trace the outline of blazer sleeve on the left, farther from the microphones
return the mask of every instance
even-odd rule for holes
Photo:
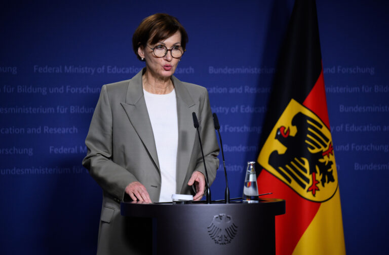
[[[138,180],[112,161],[112,110],[106,85],[101,89],[85,144],[88,151],[84,167],[104,191],[123,201],[127,185]]]

